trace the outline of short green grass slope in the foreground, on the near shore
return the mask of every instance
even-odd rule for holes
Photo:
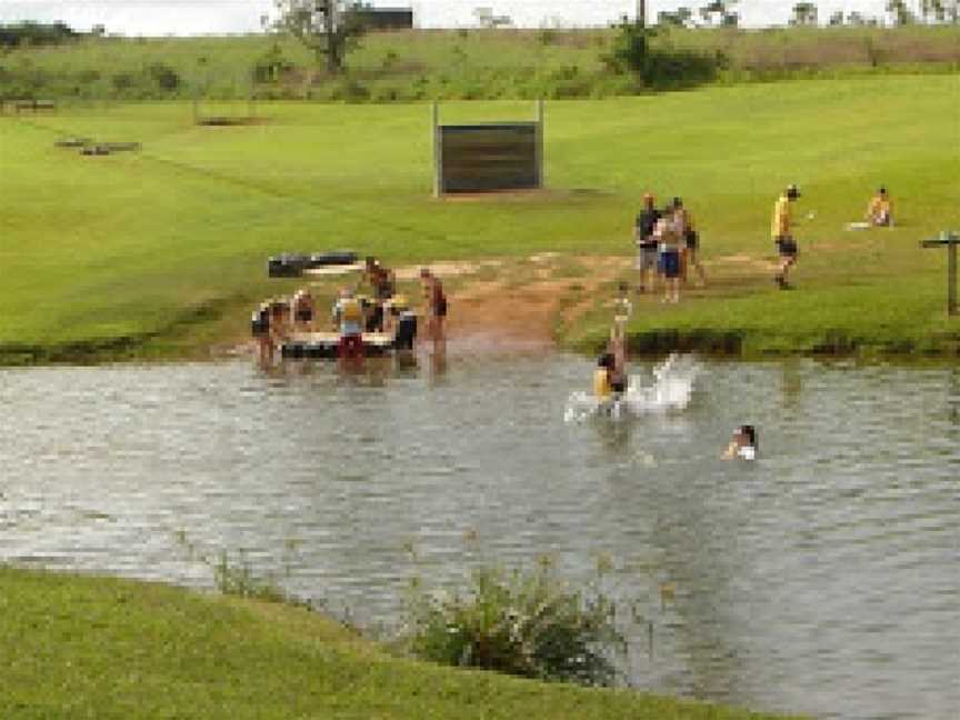
[[[774,716],[397,659],[284,604],[0,567],[3,718]]]

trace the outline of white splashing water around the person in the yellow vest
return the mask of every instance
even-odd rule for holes
[[[692,356],[674,352],[653,368],[652,384],[643,386],[642,378],[630,376],[627,391],[618,398],[600,399],[582,390],[570,393],[563,421],[579,422],[596,416],[619,420],[631,414],[683,410],[690,403],[693,382],[700,370]]]

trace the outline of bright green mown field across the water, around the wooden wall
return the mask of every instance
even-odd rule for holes
[[[252,306],[289,287],[264,271],[284,250],[351,248],[389,263],[626,257],[648,189],[687,200],[714,281],[679,307],[641,303],[636,346],[710,348],[732,333],[744,352],[957,352],[946,253],[918,241],[960,226],[960,74],[551,102],[550,191],[523,200],[434,200],[427,106],[259,111],[267,121],[242,128],[196,127],[189,103],[0,118],[0,359],[203,352],[243,337]],[[531,114],[516,102],[442,109],[449,122]],[[53,147],[73,134],[143,149]],[[797,233],[799,289],[778,292],[760,266],[791,181],[804,191],[799,213],[817,218]],[[881,182],[898,227],[844,232]],[[562,340],[592,347],[606,321],[594,314]]]

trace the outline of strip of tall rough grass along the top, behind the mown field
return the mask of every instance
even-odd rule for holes
[[[61,101],[246,99],[251,73],[262,99],[350,102],[430,99],[597,98],[644,91],[604,64],[613,30],[411,30],[368,36],[344,77],[316,70],[311,54],[283,37],[92,38],[0,56],[0,96]],[[718,59],[719,82],[949,72],[960,67],[960,28],[780,28],[662,30],[653,49]],[[702,79],[701,79],[702,80]],[[663,77],[661,87],[689,79]],[[649,90],[649,88],[646,88]]]

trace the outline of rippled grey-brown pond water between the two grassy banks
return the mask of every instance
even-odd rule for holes
[[[642,617],[636,687],[956,718],[960,369],[700,367],[686,409],[619,422],[566,422],[591,362],[540,351],[0,370],[0,562],[210,587],[190,547],[242,550],[392,627],[414,576],[546,553],[586,581],[606,558]],[[742,422],[759,459],[720,460]]]

